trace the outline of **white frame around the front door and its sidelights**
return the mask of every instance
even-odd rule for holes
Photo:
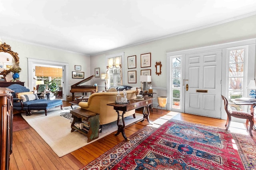
[[[248,40],[244,40],[244,41],[235,41],[235,42],[230,42],[230,43],[224,43],[224,44],[218,44],[218,45],[212,45],[212,46],[206,46],[206,47],[200,47],[200,48],[195,48],[195,49],[187,49],[187,50],[182,50],[182,51],[174,51],[174,52],[168,52],[166,53],[166,57],[167,57],[167,63],[169,65],[167,65],[167,97],[168,97],[168,101],[167,101],[167,106],[169,106],[169,108],[172,108],[172,101],[171,101],[171,97],[172,97],[172,83],[170,82],[171,79],[171,75],[172,75],[172,57],[174,56],[182,56],[182,65],[184,66],[184,61],[185,61],[185,55],[188,54],[193,54],[193,53],[202,53],[202,52],[207,52],[207,51],[214,51],[214,50],[222,50],[222,87],[221,87],[221,94],[226,95],[227,91],[227,81],[226,81],[226,69],[227,69],[227,57],[226,57],[226,49],[228,48],[232,48],[232,47],[239,47],[239,46],[246,46],[248,45],[248,60],[253,60],[254,62],[248,62],[248,66],[247,66],[247,70],[248,70],[248,74],[247,74],[247,81],[249,80],[253,80],[255,78],[256,75],[256,64],[255,64],[255,45],[256,45],[256,39],[248,39]],[[250,48],[251,47],[251,48]],[[252,57],[250,58],[250,56],[254,56],[254,58],[252,59]],[[182,80],[185,78],[185,69],[183,69],[184,67],[182,66]],[[247,83],[247,82],[246,82]],[[184,89],[184,84],[182,85],[182,89]],[[249,90],[248,90],[249,92]],[[247,93],[248,93],[247,92]],[[185,94],[183,93],[181,96],[181,100],[184,101],[185,98]],[[226,119],[226,112],[224,111],[224,107],[223,107],[223,102],[221,104],[222,108],[221,108],[221,119]],[[170,109],[171,110],[171,109]],[[184,113],[185,110],[185,105],[184,102],[182,102],[181,104],[181,108],[180,112]],[[177,111],[177,110],[175,110]]]

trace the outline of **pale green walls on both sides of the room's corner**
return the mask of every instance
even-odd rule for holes
[[[164,23],[163,23],[164,27]],[[132,36],[132,35],[130,35]],[[4,35],[2,35],[4,37]],[[256,38],[256,16],[231,21],[221,25],[193,31],[190,33],[184,33],[149,43],[135,45],[115,51],[102,53],[88,57],[86,55],[71,53],[54,48],[48,48],[38,45],[32,45],[28,43],[22,43],[13,41],[10,39],[2,40],[12,47],[12,51],[17,52],[20,57],[20,66],[22,72],[20,72],[20,79],[25,82],[25,86],[28,86],[28,62],[27,58],[43,59],[48,61],[60,61],[69,64],[69,84],[68,86],[80,81],[72,79],[71,72],[74,71],[74,65],[81,65],[82,72],[85,72],[85,77],[94,74],[94,68],[100,67],[100,73],[106,71],[105,56],[115,53],[124,52],[124,65],[122,66],[124,72],[124,85],[140,86],[140,70],[151,69],[152,74],[152,87],[166,88],[166,71],[168,64],[166,63],[166,52],[180,51],[184,49],[192,49],[198,47],[205,47],[209,45],[216,45],[220,43],[228,43],[233,41],[241,41],[245,39]],[[151,67],[140,68],[140,54],[151,53]],[[137,68],[127,68],[127,57],[137,56]],[[155,63],[162,62],[162,74],[157,76],[155,74]],[[137,83],[128,84],[128,70],[137,71]],[[100,90],[104,89],[104,80],[100,78],[94,78],[94,82],[100,85]],[[94,83],[93,82],[93,83]]]

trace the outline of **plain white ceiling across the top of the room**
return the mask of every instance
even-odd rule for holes
[[[0,0],[0,36],[94,55],[255,14],[255,0]]]

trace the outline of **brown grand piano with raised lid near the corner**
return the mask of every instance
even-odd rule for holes
[[[74,93],[82,93],[82,95],[84,95],[84,93],[87,92],[92,92],[92,90],[95,90],[95,92],[98,92],[98,86],[94,86],[94,85],[82,85],[85,82],[88,82],[89,80],[91,80],[94,77],[94,75],[76,83],[73,84],[71,86],[71,90],[70,93],[72,93],[72,99],[74,100]]]

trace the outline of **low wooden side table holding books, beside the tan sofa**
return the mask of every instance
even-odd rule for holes
[[[99,137],[99,113],[94,113],[86,109],[74,109],[70,110],[70,113],[74,118],[71,124],[71,132],[77,130],[86,135],[88,137],[87,143]],[[77,122],[83,122],[82,129],[74,125]]]

